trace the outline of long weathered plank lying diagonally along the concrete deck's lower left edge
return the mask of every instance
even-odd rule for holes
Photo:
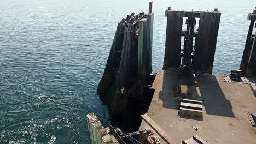
[[[177,143],[170,139],[170,137],[165,133],[165,131],[159,127],[147,114],[141,115],[145,122],[147,122],[168,144]]]

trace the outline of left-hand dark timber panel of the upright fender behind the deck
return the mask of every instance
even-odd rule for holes
[[[166,10],[167,16],[164,67],[179,68],[184,11]]]

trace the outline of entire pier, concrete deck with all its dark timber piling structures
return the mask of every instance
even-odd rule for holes
[[[116,136],[112,138],[147,144],[255,143],[256,10],[248,14],[251,23],[240,70],[231,70],[229,76],[212,75],[221,16],[218,9],[169,7],[165,16],[164,65],[157,74],[151,74],[152,2],[148,14],[132,13],[118,23],[97,93],[108,97],[104,93],[116,83],[112,121],[132,127],[141,113],[142,122],[135,133],[112,129]],[[147,109],[142,110],[143,106]],[[102,125],[93,118],[90,121],[91,139],[95,139],[94,131]],[[133,134],[140,136],[133,140],[129,137]]]

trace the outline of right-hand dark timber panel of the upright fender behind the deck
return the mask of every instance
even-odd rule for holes
[[[196,37],[195,58],[192,67],[212,74],[221,13],[216,9],[202,12]]]

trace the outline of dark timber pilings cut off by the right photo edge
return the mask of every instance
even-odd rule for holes
[[[254,9],[253,13],[249,13],[247,19],[251,21],[245,50],[243,51],[243,57],[240,64],[240,70],[242,70],[242,76],[244,77],[256,77],[256,39],[255,34],[253,34],[253,27],[256,20],[256,9]]]

